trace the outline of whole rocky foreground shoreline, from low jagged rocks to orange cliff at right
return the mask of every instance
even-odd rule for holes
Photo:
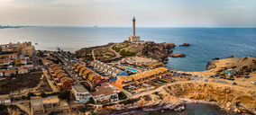
[[[171,92],[169,92],[170,90]],[[108,106],[104,109],[104,113],[131,114],[139,111],[184,111],[186,110],[186,104],[208,103],[218,105],[222,110],[231,114],[256,114],[254,94],[254,91],[227,85],[177,83],[166,86],[158,93],[146,93],[146,95],[138,97],[136,102]]]

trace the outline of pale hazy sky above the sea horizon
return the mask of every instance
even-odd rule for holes
[[[0,0],[0,24],[256,27],[256,0]]]

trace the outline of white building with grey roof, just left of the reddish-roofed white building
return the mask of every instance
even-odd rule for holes
[[[88,102],[92,97],[87,89],[82,85],[73,85],[71,91],[78,102]]]

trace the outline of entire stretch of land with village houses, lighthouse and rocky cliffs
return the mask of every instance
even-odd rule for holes
[[[256,114],[256,58],[215,58],[205,72],[165,66],[173,43],[122,43],[71,53],[38,50],[31,41],[0,46],[1,114],[133,114],[183,111],[207,102],[232,113]],[[184,43],[178,47],[193,47]]]

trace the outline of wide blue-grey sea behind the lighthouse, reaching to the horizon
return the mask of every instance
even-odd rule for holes
[[[36,49],[75,52],[78,49],[123,42],[132,35],[130,27],[24,27],[0,29],[0,44],[32,41]],[[167,66],[178,71],[205,71],[213,58],[256,57],[256,28],[146,28],[137,27],[142,40],[175,43]],[[190,47],[178,47],[189,43]]]

